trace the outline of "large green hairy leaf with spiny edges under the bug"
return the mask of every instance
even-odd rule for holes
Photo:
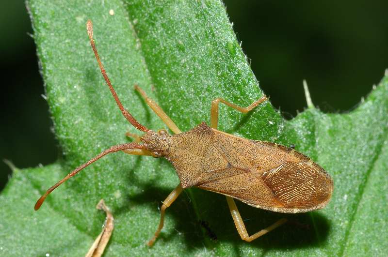
[[[220,107],[219,128],[250,139],[295,145],[333,177],[334,194],[320,211],[267,212],[237,203],[250,234],[280,217],[291,222],[258,240],[240,239],[225,197],[185,190],[167,210],[154,247],[160,202],[179,183],[163,159],[111,154],[56,189],[39,212],[36,199],[75,166],[137,131],[115,106],[85,30],[124,106],[141,123],[166,128],[133,90],[139,84],[181,130],[209,123],[210,102],[223,97],[247,106],[262,93],[216,0],[162,2],[30,0],[34,39],[63,156],[57,163],[15,170],[0,195],[0,253],[4,256],[81,256],[100,232],[103,198],[115,228],[106,256],[384,255],[388,177],[388,78],[354,111],[309,108],[285,121],[269,104],[242,115]],[[110,15],[110,10],[114,15]],[[199,220],[218,240],[212,241]]]

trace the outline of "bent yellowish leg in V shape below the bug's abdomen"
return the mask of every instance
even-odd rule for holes
[[[253,234],[252,236],[249,236],[248,232],[246,231],[244,221],[241,218],[240,212],[237,209],[236,203],[234,202],[233,198],[226,197],[226,201],[230,209],[230,214],[232,214],[234,225],[236,226],[241,239],[246,242],[251,242],[257,239],[258,237],[261,237],[262,235],[267,234],[269,231],[275,229],[276,227],[279,227],[280,225],[283,225],[287,221],[287,219],[280,219],[276,221],[274,224],[272,224],[271,226],[261,229],[259,232]]]

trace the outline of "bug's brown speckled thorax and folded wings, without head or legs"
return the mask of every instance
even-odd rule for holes
[[[174,138],[175,155],[166,158],[183,188],[197,186],[275,212],[321,209],[333,192],[330,175],[291,148],[232,136],[205,123]]]

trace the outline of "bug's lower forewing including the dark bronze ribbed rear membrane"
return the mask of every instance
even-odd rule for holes
[[[263,173],[231,166],[205,173],[196,186],[265,210],[308,212],[322,209],[333,188],[316,166],[284,162]]]

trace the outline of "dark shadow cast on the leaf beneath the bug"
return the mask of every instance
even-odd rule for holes
[[[173,190],[172,188],[155,187],[151,183],[143,184],[142,187],[144,191],[141,194],[128,197],[128,200],[138,205],[152,204],[160,207],[161,201]],[[289,221],[253,242],[245,242],[241,240],[234,226],[224,196],[198,188],[190,188],[185,189],[185,192],[166,210],[165,220],[174,219],[176,221],[177,226],[174,229],[177,233],[168,234],[162,230],[156,243],[168,243],[174,237],[182,236],[190,246],[188,248],[193,251],[204,246],[211,249],[217,247],[218,244],[227,243],[233,245],[236,255],[240,255],[239,246],[242,244],[249,244],[264,250],[293,249],[319,247],[327,238],[329,222],[319,212],[284,214],[256,209],[239,201],[236,201],[236,204],[249,235],[270,226],[280,218],[286,217]],[[195,205],[198,209],[198,216],[194,211]],[[129,207],[126,206],[115,212],[119,214],[128,212],[128,210]],[[158,209],[155,208],[155,211],[157,212]],[[201,226],[201,221],[205,221],[208,228]],[[159,219],[155,221],[155,224],[158,222]],[[150,237],[153,233],[154,230],[149,231]],[[214,240],[214,237],[217,240]],[[146,240],[148,238],[145,238]]]

